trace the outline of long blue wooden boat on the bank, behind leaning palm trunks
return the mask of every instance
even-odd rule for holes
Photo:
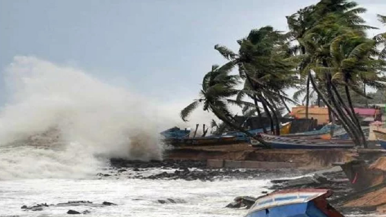
[[[354,143],[351,139],[299,139],[284,136],[273,136],[268,134],[259,134],[261,138],[271,146],[277,149],[331,149],[331,148],[352,148]],[[251,139],[251,144],[258,144],[256,140]]]

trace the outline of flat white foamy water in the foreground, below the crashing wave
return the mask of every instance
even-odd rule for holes
[[[185,181],[141,179],[20,179],[0,181],[0,216],[63,216],[69,209],[90,216],[243,216],[245,209],[224,208],[234,197],[261,195],[267,180]],[[172,198],[182,203],[161,204]],[[44,207],[23,211],[22,205],[57,204],[74,200],[117,205]]]

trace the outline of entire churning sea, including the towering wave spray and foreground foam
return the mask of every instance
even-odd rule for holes
[[[242,216],[245,210],[225,205],[265,190],[266,180],[100,180],[108,158],[161,159],[158,132],[180,124],[178,110],[34,57],[15,57],[3,75],[0,216],[67,216],[69,209],[90,216]],[[166,198],[183,203],[157,202]],[[118,205],[20,209],[76,200]]]

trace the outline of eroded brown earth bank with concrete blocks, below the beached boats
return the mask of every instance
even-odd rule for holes
[[[218,160],[210,167],[225,168],[304,168],[320,169],[335,162],[346,162],[358,156],[347,149],[256,149],[247,144],[207,147],[183,147],[170,150],[166,159]]]

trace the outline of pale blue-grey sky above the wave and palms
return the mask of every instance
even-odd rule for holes
[[[316,2],[0,0],[0,76],[14,56],[33,56],[182,108],[211,65],[225,62],[215,44],[236,50],[251,29],[286,31],[286,15]],[[368,9],[369,25],[381,27],[376,14],[386,14],[386,1],[357,2]]]

